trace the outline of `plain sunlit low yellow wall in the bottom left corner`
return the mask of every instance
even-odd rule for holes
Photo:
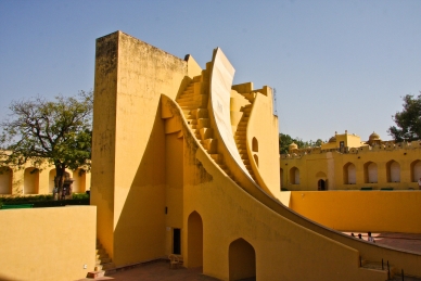
[[[95,217],[93,206],[0,210],[0,280],[85,278],[95,266]]]

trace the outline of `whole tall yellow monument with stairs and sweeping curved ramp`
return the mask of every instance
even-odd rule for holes
[[[350,240],[285,207],[277,199],[269,88],[231,87],[225,56],[214,54],[203,71],[191,60],[120,31],[97,41],[91,202],[98,237],[116,266],[170,254],[179,229],[183,265],[222,280],[386,279],[385,271],[359,268],[360,255],[421,276],[420,255]],[[208,99],[215,88],[224,104]],[[248,102],[231,106],[239,94]],[[235,112],[244,116],[251,107],[256,117]],[[242,122],[246,131],[235,130]],[[324,154],[328,167],[318,177],[336,180],[334,159]]]

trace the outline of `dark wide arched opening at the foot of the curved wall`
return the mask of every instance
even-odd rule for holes
[[[256,278],[256,253],[254,247],[240,238],[229,245],[229,280]]]

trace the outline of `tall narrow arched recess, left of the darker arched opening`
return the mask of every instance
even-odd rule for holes
[[[188,267],[203,266],[203,222],[197,212],[188,218]]]

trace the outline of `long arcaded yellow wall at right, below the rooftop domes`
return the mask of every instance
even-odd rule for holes
[[[281,155],[282,187],[290,191],[315,191],[319,188],[318,181],[323,179],[328,180],[327,190],[360,190],[361,188],[418,190],[417,179],[421,177],[420,142],[388,145],[390,148],[349,146],[348,152],[341,152],[337,148],[334,151],[302,150],[290,155]],[[391,176],[394,174],[391,163],[394,162],[398,165],[396,177]],[[368,165],[371,163],[375,165],[374,180],[369,177]],[[355,167],[354,174],[349,171],[349,165]],[[298,184],[294,184],[291,180],[291,169],[294,167],[299,170]]]

